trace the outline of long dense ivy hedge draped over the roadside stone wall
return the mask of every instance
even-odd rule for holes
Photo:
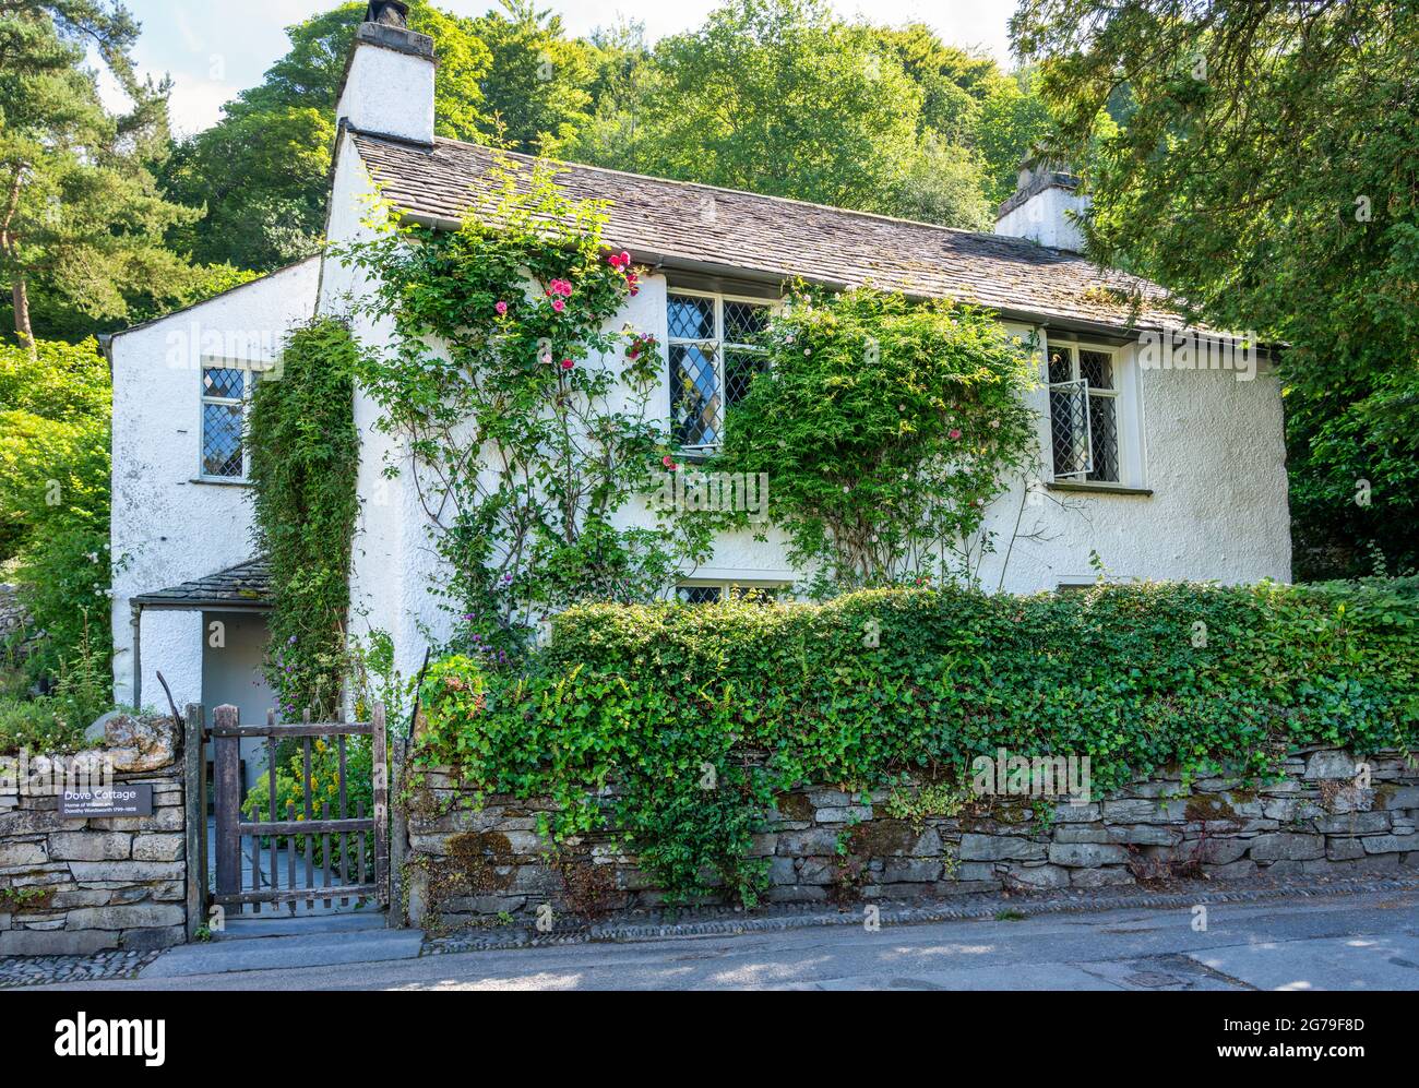
[[[752,902],[749,836],[802,783],[961,783],[1005,748],[1088,756],[1098,793],[1165,765],[1263,775],[1298,745],[1412,750],[1416,643],[1419,580],[583,606],[525,677],[431,667],[420,759],[552,799],[556,838],[620,828],[673,898],[722,884]]]

